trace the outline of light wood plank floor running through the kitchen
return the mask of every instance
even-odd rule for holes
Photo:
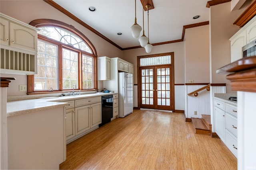
[[[192,128],[184,113],[134,110],[69,143],[60,169],[237,169],[220,139]]]

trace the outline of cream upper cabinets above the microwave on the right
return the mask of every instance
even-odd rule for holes
[[[231,63],[242,59],[242,47],[256,39],[256,16],[235,33],[230,40]]]

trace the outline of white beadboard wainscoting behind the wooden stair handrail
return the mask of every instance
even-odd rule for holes
[[[198,90],[205,85],[186,85],[187,93]],[[187,96],[187,118],[202,118],[202,115],[210,115],[210,92],[202,90],[198,92],[198,96]],[[197,111],[197,114],[194,114]]]

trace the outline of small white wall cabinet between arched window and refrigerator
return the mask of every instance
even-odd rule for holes
[[[98,57],[98,80],[111,79],[111,60],[108,57]]]

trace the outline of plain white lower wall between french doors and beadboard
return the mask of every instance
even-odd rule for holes
[[[185,109],[185,86],[175,85],[174,86],[174,98],[175,98],[175,109]]]

